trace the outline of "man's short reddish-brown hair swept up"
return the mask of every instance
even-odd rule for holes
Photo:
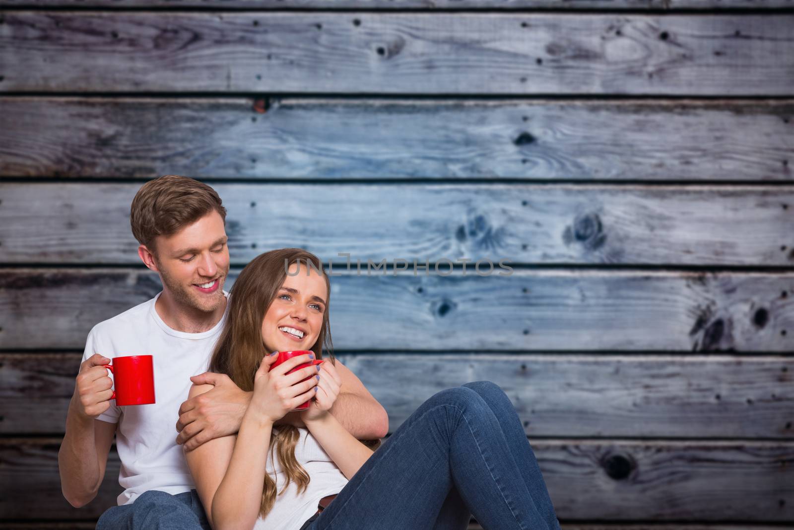
[[[129,224],[138,242],[154,252],[157,236],[176,234],[212,211],[225,222],[217,191],[187,176],[166,175],[141,186],[129,207]]]

